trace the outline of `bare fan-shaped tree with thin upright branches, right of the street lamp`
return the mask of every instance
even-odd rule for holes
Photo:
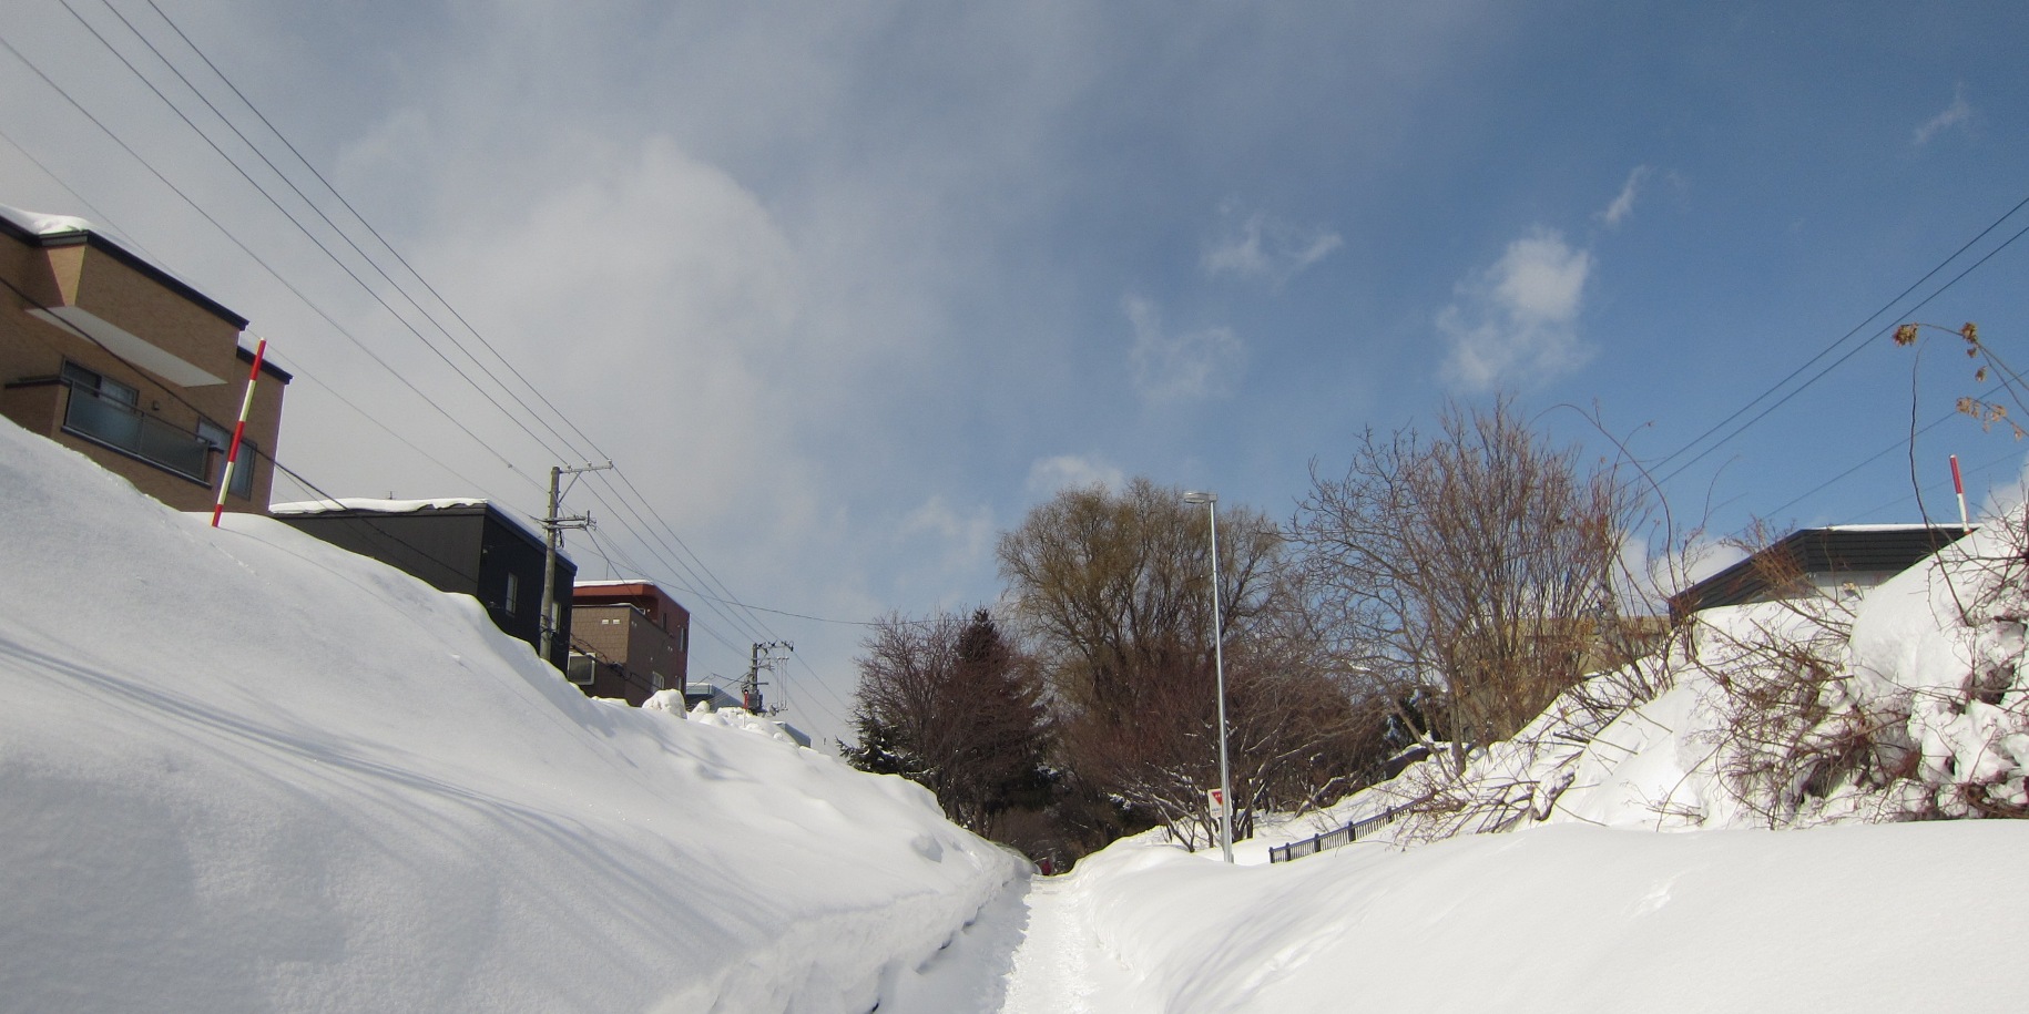
[[[1313,464],[1290,529],[1335,655],[1457,773],[1621,629],[1629,489],[1540,440],[1508,400],[1449,406],[1428,438],[1370,430],[1343,477]]]

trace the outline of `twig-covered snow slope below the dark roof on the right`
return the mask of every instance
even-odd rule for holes
[[[1428,760],[1311,823],[1432,797],[1435,813],[1390,836],[2029,815],[2025,546],[2019,521],[1990,521],[1850,614],[1698,612],[1664,655],[1589,679],[1475,750],[1463,779]]]

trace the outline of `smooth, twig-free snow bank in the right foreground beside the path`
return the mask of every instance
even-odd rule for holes
[[[1167,1014],[2015,1010],[2021,821],[1585,825],[1223,866],[1152,840],[1069,874]]]

